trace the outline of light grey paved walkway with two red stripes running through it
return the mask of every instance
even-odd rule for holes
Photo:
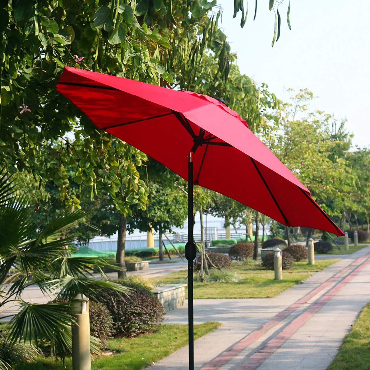
[[[195,300],[196,324],[222,323],[195,341],[195,369],[324,370],[369,301],[370,247],[272,299]],[[165,323],[186,324],[187,305]],[[188,369],[188,347],[150,369]]]

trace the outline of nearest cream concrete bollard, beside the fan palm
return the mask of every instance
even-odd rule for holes
[[[83,294],[75,296],[72,325],[72,368],[91,370],[89,299]]]

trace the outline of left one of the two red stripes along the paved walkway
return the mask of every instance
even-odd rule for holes
[[[303,304],[307,303],[308,300],[310,300],[312,297],[320,293],[323,289],[325,289],[327,286],[329,286],[331,283],[335,282],[340,278],[340,276],[346,274],[351,270],[353,265],[360,264],[364,259],[366,259],[370,255],[370,252],[366,253],[365,255],[357,258],[353,262],[351,262],[348,266],[337,272],[334,276],[327,279],[324,283],[319,285],[318,287],[311,290],[311,292],[307,293],[304,297],[297,300],[295,303],[284,309],[283,311],[277,313],[271,320],[269,320],[267,323],[263,324],[261,327],[256,329],[255,331],[248,334],[245,338],[240,340],[240,342],[236,343],[231,349],[225,351],[224,353],[217,356],[215,359],[210,361],[208,364],[203,366],[201,370],[216,370],[219,369],[222,365],[227,363],[229,360],[231,360],[233,357],[235,357],[237,354],[239,354],[242,350],[246,349],[248,346],[250,346],[252,343],[254,343],[256,340],[258,340],[260,337],[262,337],[265,333],[267,333],[270,329],[272,329],[274,326],[276,326],[278,323],[280,323],[282,320],[284,320],[286,317],[288,317],[290,314],[295,312],[297,309],[302,307]],[[262,356],[263,357],[263,356]]]

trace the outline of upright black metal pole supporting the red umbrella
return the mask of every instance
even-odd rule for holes
[[[193,246],[193,153],[188,161],[188,244]],[[191,253],[189,253],[191,254]],[[189,321],[189,370],[194,370],[194,307],[193,307],[193,259],[188,258],[188,321]]]

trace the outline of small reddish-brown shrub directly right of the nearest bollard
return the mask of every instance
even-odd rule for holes
[[[90,301],[90,334],[100,339],[100,347],[107,347],[113,333],[113,319],[107,307],[101,302]]]

